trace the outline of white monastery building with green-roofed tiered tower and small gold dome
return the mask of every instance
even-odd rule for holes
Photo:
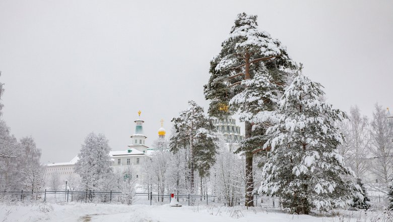
[[[141,117],[141,111],[138,112],[139,118]],[[129,172],[132,169],[133,174],[137,179],[142,176],[142,163],[150,160],[151,154],[156,150],[155,148],[149,148],[145,145],[145,140],[147,137],[143,132],[143,120],[136,120],[135,122],[135,132],[131,135],[132,144],[128,145],[125,150],[110,151],[109,156],[112,160],[113,172],[124,173]],[[158,131],[159,138],[165,137],[165,129],[161,128]],[[46,177],[49,179],[53,175],[58,176],[60,184],[65,183],[65,181],[70,181],[72,177],[79,177],[77,173],[74,172],[75,163],[78,161],[79,157],[75,156],[70,162],[58,162],[58,163],[47,163]],[[128,175],[127,175],[128,176]]]

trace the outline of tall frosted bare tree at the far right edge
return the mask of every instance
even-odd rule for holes
[[[393,126],[387,121],[387,113],[380,105],[375,104],[375,111],[370,124],[370,151],[374,157],[371,171],[376,175],[378,190],[388,189],[393,174]]]

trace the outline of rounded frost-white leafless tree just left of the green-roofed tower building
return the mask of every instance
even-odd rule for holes
[[[100,189],[100,184],[112,173],[110,147],[103,134],[90,133],[82,144],[75,172],[81,177],[83,189]]]

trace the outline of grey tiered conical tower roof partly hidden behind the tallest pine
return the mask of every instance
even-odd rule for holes
[[[239,143],[244,139],[244,136],[240,134],[240,127],[236,125],[236,120],[233,118],[216,119],[214,126],[218,132],[224,135],[228,143]]]

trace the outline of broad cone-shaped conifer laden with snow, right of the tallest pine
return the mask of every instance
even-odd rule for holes
[[[267,131],[265,147],[271,146],[271,153],[259,191],[280,197],[296,213],[341,207],[354,195],[362,198],[337,150],[343,138],[334,122],[346,114],[321,101],[321,88],[296,74],[280,101],[278,124]]]

